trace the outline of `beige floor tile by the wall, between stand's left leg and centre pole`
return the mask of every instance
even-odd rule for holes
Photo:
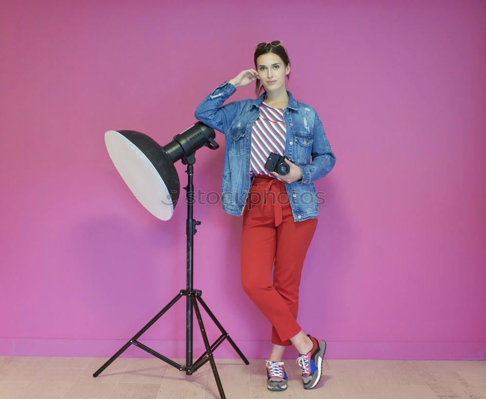
[[[157,358],[134,358],[130,360],[120,382],[158,383],[160,385],[167,367],[173,366]]]

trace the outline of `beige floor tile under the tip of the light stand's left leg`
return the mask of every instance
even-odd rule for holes
[[[63,398],[109,398],[128,366],[129,358],[117,358],[98,376],[93,373],[100,368],[108,358],[93,358],[81,375],[69,387]]]

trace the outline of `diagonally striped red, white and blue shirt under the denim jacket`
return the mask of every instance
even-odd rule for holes
[[[264,101],[260,105],[260,116],[253,123],[251,131],[250,179],[253,179],[255,174],[266,174],[280,180],[263,165],[271,152],[281,156],[284,154],[287,129],[283,112],[284,108],[271,107]]]

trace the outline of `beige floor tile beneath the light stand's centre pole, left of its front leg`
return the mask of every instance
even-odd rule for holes
[[[185,359],[173,360],[179,364],[185,364]],[[185,371],[169,366],[160,385],[157,399],[203,399],[209,374],[212,375],[209,362],[190,376],[186,375]]]

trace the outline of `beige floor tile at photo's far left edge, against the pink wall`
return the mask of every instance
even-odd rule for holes
[[[52,357],[5,356],[0,361],[0,381],[32,381]]]

